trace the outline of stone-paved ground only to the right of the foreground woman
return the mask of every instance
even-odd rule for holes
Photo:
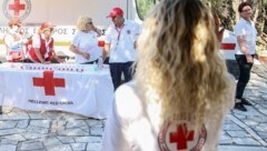
[[[255,66],[245,90],[253,107],[247,112],[231,110],[224,124],[220,150],[267,151],[267,69]]]

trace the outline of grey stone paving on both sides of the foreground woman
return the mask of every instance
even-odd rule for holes
[[[231,110],[219,151],[267,151],[267,70],[255,67],[245,95],[247,112]],[[66,112],[3,108],[0,151],[100,151],[105,120]]]

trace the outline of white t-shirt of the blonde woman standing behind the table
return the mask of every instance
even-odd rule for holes
[[[101,56],[101,49],[98,47],[98,34],[95,31],[78,31],[71,44],[77,47],[80,51],[90,54],[89,59],[83,58],[81,54],[76,54],[76,63],[96,61]]]

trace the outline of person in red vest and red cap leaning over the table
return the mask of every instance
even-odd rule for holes
[[[62,62],[53,48],[55,26],[51,22],[44,22],[40,26],[37,34],[32,37],[31,46],[28,51],[28,58],[33,63],[51,63],[52,59]]]

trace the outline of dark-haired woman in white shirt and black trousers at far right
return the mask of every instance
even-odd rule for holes
[[[235,109],[247,111],[245,105],[251,105],[251,103],[247,99],[243,98],[243,94],[250,78],[254,58],[257,57],[257,30],[255,28],[255,23],[251,21],[253,8],[250,3],[241,2],[238,7],[238,12],[240,14],[240,20],[235,26],[235,34],[237,37],[235,57],[240,74],[236,88]]]

